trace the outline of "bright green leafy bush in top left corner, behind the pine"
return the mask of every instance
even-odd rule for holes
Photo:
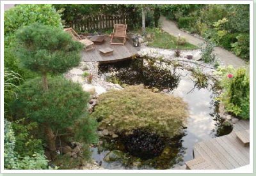
[[[62,28],[60,14],[52,4],[18,4],[15,8],[4,11],[4,35],[34,22]]]

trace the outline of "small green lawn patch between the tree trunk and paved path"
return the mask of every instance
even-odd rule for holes
[[[164,48],[164,49],[177,49],[179,50],[195,50],[198,49],[195,45],[191,43],[186,43],[184,45],[177,45],[177,38],[172,36],[168,33],[156,33],[153,41],[148,43],[149,47],[156,47],[156,48]]]

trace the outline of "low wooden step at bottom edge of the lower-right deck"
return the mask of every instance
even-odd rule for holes
[[[204,158],[195,158],[191,161],[185,162],[188,170],[214,170],[214,166],[212,166],[209,162],[205,161]]]

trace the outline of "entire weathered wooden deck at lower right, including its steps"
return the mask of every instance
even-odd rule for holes
[[[232,132],[195,144],[194,158],[173,170],[230,170],[250,164],[250,121],[241,120]]]

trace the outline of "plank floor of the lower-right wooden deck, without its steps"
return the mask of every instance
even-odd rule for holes
[[[229,170],[250,164],[250,147],[237,139],[236,132],[250,129],[250,121],[236,123],[232,132],[225,136],[196,143],[194,158],[204,158],[216,170]],[[193,160],[191,160],[193,161]],[[186,165],[172,170],[186,170]]]

